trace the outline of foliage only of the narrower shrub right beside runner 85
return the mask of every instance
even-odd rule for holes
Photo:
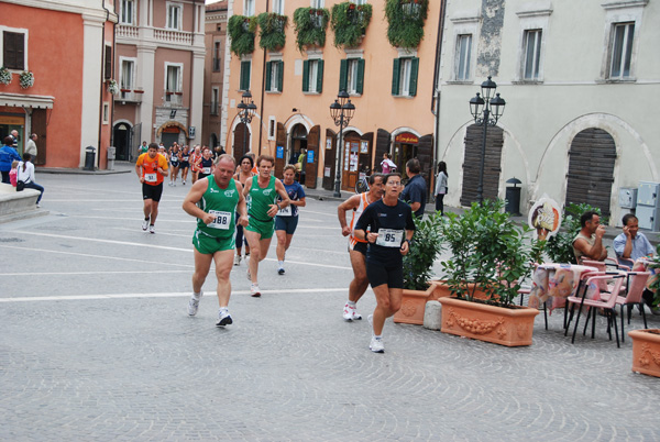
[[[440,239],[440,212],[427,216],[424,221],[415,220],[415,235],[410,251],[404,256],[404,288],[408,290],[426,290],[427,281],[433,277],[431,267],[442,250]]]

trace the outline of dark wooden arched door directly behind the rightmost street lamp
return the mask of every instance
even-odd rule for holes
[[[465,156],[463,158],[463,191],[461,206],[470,206],[476,201],[476,189],[481,169],[482,144],[484,128],[472,124],[465,134]],[[486,156],[484,163],[484,199],[496,199],[499,187],[499,173],[502,172],[502,146],[504,145],[504,131],[498,128],[488,128],[486,134]]]

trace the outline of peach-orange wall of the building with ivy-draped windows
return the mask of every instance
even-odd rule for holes
[[[271,2],[272,4],[273,2]],[[332,5],[339,1],[327,0],[324,7],[331,11]],[[436,40],[438,33],[438,22],[440,18],[440,2],[429,1],[428,16],[425,22],[425,38],[419,46],[411,53],[393,47],[387,41],[387,20],[385,19],[385,2],[369,1],[373,5],[371,22],[366,29],[362,43],[351,49],[338,48],[333,45],[334,33],[330,24],[327,29],[324,47],[316,53],[300,53],[296,44],[296,33],[294,31],[293,15],[298,8],[308,8],[308,0],[287,0],[285,2],[285,15],[288,16],[288,26],[286,29],[286,44],[278,53],[265,54],[265,62],[282,59],[284,62],[284,78],[282,92],[262,92],[262,78],[264,69],[265,51],[258,46],[258,30],[255,37],[255,51],[251,54],[252,75],[250,90],[254,103],[257,107],[256,115],[250,124],[251,148],[256,152],[276,153],[276,140],[268,140],[268,120],[275,118],[277,123],[283,123],[287,133],[287,143],[285,152],[290,152],[292,129],[296,122],[304,124],[308,130],[314,126],[320,129],[319,161],[316,175],[321,181],[324,173],[326,156],[326,130],[337,132],[333,120],[330,117],[330,104],[337,98],[339,92],[340,62],[346,57],[361,57],[364,59],[364,88],[361,96],[352,96],[351,101],[356,110],[354,118],[350,121],[349,130],[344,134],[353,131],[358,135],[373,133],[370,144],[371,164],[378,168],[382,157],[376,157],[376,134],[377,131],[385,130],[389,133],[391,143],[387,152],[395,154],[396,143],[394,139],[397,133],[409,132],[418,137],[430,136],[430,152],[432,152],[432,136],[435,126],[435,117],[431,112],[431,102],[433,93],[433,69],[436,63]],[[229,16],[232,14],[242,14],[243,1],[230,1]],[[255,15],[264,12],[265,2],[257,1]],[[229,46],[229,38],[228,38]],[[229,49],[228,49],[229,52]],[[302,62],[310,57],[321,57],[323,60],[323,82],[321,93],[302,92]],[[415,97],[395,97],[392,95],[393,82],[393,60],[405,56],[416,56],[419,58],[419,70],[417,78],[417,93]],[[229,69],[226,75],[228,80],[227,88],[227,111],[223,135],[228,152],[231,152],[234,140],[234,129],[238,124],[237,104],[241,101],[242,91],[239,90],[241,70],[241,59],[231,54]],[[293,111],[296,108],[297,111]],[[261,125],[261,137],[260,137]],[[336,141],[332,141],[336,143]],[[237,146],[241,148],[241,146]],[[334,146],[333,146],[334,148]],[[286,155],[285,155],[286,156]],[[382,156],[382,153],[381,153]],[[428,161],[427,178],[430,168],[435,164],[432,159]],[[308,183],[307,184],[311,184]],[[345,184],[344,184],[345,186]]]

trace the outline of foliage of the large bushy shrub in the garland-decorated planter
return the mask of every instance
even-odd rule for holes
[[[479,290],[485,302],[509,307],[540,258],[544,241],[526,237],[530,229],[518,226],[503,209],[502,200],[473,202],[462,216],[447,213],[449,220],[440,224],[453,254],[442,263],[443,278],[459,298],[474,301]]]

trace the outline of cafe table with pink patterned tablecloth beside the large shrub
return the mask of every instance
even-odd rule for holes
[[[529,291],[528,306],[539,308],[549,302],[550,311],[565,306],[569,296],[579,296],[582,287],[582,277],[588,273],[598,272],[595,267],[576,264],[541,264],[531,277],[531,289]],[[600,295],[598,287],[593,285],[586,289],[586,298],[592,299]]]

